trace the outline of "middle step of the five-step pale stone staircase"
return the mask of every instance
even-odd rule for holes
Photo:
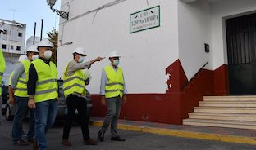
[[[194,107],[194,112],[200,112],[200,113],[254,113],[256,115],[256,108]]]

